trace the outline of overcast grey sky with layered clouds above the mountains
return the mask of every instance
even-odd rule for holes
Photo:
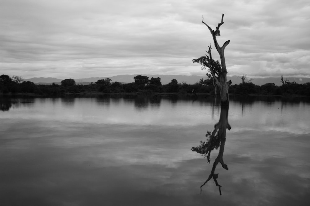
[[[310,76],[308,0],[0,0],[0,74],[205,75],[222,13],[228,75]]]

